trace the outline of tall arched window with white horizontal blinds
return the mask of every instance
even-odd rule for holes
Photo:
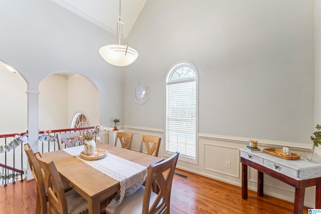
[[[166,81],[166,152],[196,160],[197,70],[178,63]]]

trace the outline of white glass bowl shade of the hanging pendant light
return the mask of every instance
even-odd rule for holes
[[[128,45],[106,45],[99,49],[99,54],[104,60],[115,66],[127,66],[138,57],[137,51]]]

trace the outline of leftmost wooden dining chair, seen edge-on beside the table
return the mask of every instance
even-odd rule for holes
[[[34,175],[37,183],[37,202],[35,213],[47,214],[47,192],[45,188],[42,170],[29,143],[26,143],[24,145],[24,149],[27,154],[31,172]]]

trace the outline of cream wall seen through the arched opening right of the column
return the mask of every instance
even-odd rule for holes
[[[39,84],[39,129],[70,128],[77,112],[84,112],[91,125],[99,124],[99,90],[87,77],[58,72]]]

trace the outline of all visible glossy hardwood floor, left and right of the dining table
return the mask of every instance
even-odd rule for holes
[[[171,198],[171,213],[292,213],[293,203],[271,196],[257,196],[249,190],[248,199],[241,198],[241,187],[203,177],[194,173],[176,170],[187,175],[174,176]],[[35,213],[36,182],[18,181],[0,186],[0,213]],[[303,213],[308,213],[304,207]]]

